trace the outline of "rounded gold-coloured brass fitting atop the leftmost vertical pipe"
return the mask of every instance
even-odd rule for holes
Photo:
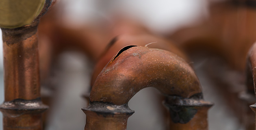
[[[17,28],[31,24],[45,0],[0,0],[0,27]]]

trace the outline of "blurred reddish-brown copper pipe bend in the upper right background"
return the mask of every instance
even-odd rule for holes
[[[256,41],[256,10],[253,0],[234,4],[235,0],[210,2],[209,19],[171,34],[187,52],[210,52],[222,58],[237,71],[245,71],[246,56]],[[254,2],[255,3],[255,2]],[[221,12],[221,13],[220,13]]]

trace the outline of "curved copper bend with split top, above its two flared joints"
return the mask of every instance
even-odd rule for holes
[[[135,93],[154,85],[163,94],[183,98],[202,93],[197,76],[182,58],[165,50],[130,45],[121,49],[99,74],[90,101],[126,104]]]

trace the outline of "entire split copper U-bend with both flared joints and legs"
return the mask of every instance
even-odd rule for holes
[[[141,89],[155,87],[167,97],[170,130],[207,130],[207,111],[212,106],[202,98],[193,69],[171,52],[129,45],[104,67],[82,108],[85,130],[126,130],[134,111],[129,100]]]

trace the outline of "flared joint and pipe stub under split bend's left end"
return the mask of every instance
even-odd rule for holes
[[[90,102],[82,108],[87,115],[85,130],[126,130],[127,120],[134,113],[127,104]]]

